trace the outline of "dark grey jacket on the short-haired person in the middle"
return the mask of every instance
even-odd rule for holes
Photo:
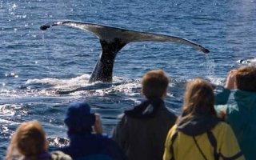
[[[160,160],[164,153],[166,135],[174,125],[176,116],[166,109],[163,101],[154,104],[148,102],[146,105],[143,103],[122,115],[121,121],[114,128],[113,139],[122,147],[129,160]],[[154,113],[144,116],[152,106],[157,108],[153,109]],[[141,115],[129,113],[136,110],[140,110]]]

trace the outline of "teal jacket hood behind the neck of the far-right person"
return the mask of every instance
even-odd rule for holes
[[[238,106],[255,110],[256,112],[256,92],[236,90],[234,92],[234,99],[238,103]]]

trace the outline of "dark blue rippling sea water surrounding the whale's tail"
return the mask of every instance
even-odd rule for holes
[[[74,20],[190,39],[206,56],[174,43],[137,42],[119,52],[114,82],[88,84],[101,51],[98,38],[46,22]],[[185,84],[203,77],[223,85],[239,59],[256,57],[256,1],[0,0],[0,159],[14,130],[38,119],[50,146],[65,143],[69,102],[86,101],[110,134],[117,115],[142,101],[140,78],[162,69],[171,78],[166,106],[179,114]],[[82,89],[70,92],[72,90]]]

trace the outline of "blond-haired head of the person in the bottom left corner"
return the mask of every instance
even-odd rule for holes
[[[11,157],[12,152],[18,150],[22,156],[34,160],[44,153],[47,147],[46,134],[41,124],[38,121],[22,122],[13,135],[7,157]]]

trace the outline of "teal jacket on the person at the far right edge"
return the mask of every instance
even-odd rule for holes
[[[256,159],[256,92],[234,90],[234,102],[227,104],[230,90],[216,94],[215,109],[226,110],[226,122],[234,130],[246,159]]]

